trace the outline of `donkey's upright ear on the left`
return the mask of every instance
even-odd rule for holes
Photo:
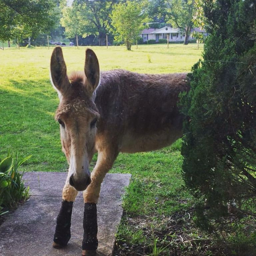
[[[67,67],[60,46],[54,48],[51,57],[51,79],[58,92],[63,93],[69,86]]]

